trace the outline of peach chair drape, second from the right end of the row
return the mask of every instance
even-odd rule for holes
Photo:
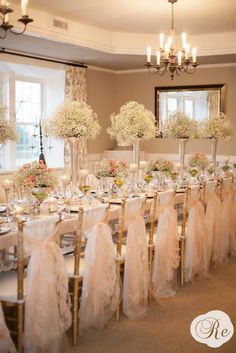
[[[207,239],[206,239],[206,265],[209,268],[211,260],[219,261],[221,258],[220,251],[222,246],[221,242],[221,201],[217,195],[217,181],[208,181],[206,183],[205,200],[206,200],[206,227],[207,227]],[[214,241],[213,241],[214,239]],[[214,245],[214,251],[213,251]],[[216,252],[217,251],[217,252]],[[216,260],[218,259],[218,260]]]

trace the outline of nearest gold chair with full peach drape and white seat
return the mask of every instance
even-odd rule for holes
[[[17,305],[20,353],[23,349],[58,353],[67,347],[65,332],[71,325],[68,277],[57,234],[57,216],[19,221],[17,274],[1,274],[0,300]],[[25,259],[29,259],[26,271]]]

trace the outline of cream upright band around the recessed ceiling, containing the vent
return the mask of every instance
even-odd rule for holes
[[[14,10],[16,15],[20,15],[19,5],[15,5]],[[29,9],[29,14],[37,21],[35,20],[28,25],[27,35],[110,54],[145,55],[148,45],[156,47],[156,33],[112,32],[33,8]],[[54,19],[66,22],[68,30],[54,27]],[[236,32],[192,35],[189,36],[189,40],[191,46],[199,48],[198,55],[200,56],[236,53]],[[178,44],[179,41],[180,36],[176,36],[176,43]]]

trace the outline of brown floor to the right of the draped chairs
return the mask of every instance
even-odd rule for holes
[[[90,330],[80,337],[78,353],[235,353],[236,352],[236,257],[221,268],[211,269],[211,278],[196,278],[178,288],[173,298],[163,299],[164,308],[151,301],[148,315],[136,321],[122,316],[111,320],[103,331]],[[235,334],[214,349],[196,342],[190,334],[192,320],[210,310],[226,312]]]

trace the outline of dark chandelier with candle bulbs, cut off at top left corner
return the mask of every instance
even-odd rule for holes
[[[2,23],[0,24],[1,39],[6,38],[8,31],[10,31],[13,34],[24,33],[26,30],[27,24],[30,22],[33,22],[33,19],[29,18],[29,16],[27,15],[28,2],[29,0],[21,0],[22,15],[21,15],[21,18],[18,19],[18,21],[21,22],[24,25],[24,27],[22,31],[16,31],[14,29],[14,26],[9,23],[9,14],[13,12],[13,10],[10,8],[10,3],[7,0],[0,1],[0,14],[2,15],[1,17]]]

